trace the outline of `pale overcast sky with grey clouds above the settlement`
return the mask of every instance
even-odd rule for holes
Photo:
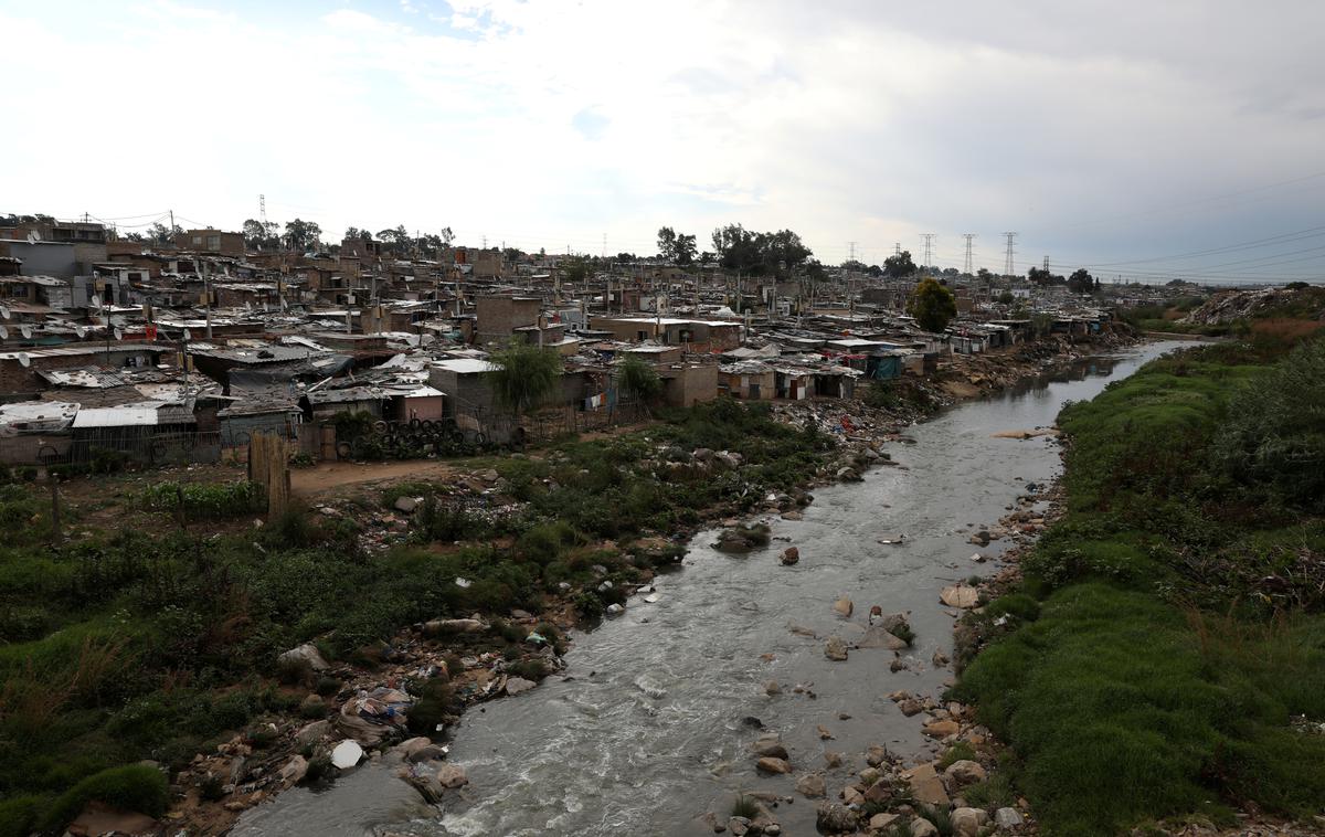
[[[1325,275],[1318,0],[0,0],[0,213],[237,229],[261,193],[334,240],[742,222],[962,266],[970,232],[1002,271],[1016,230],[1019,273]]]

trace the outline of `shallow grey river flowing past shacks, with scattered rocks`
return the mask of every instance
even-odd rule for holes
[[[1175,346],[1096,358],[910,428],[916,444],[890,446],[900,468],[820,487],[803,520],[770,520],[768,550],[725,555],[709,546],[714,532],[698,534],[684,568],[657,579],[657,603],[635,597],[621,617],[575,637],[564,678],[465,714],[450,760],[470,784],[444,808],[421,805],[387,768],[366,765],[330,791],[298,788],[248,812],[235,834],[712,834],[696,817],[713,811],[725,821],[743,789],[792,795],[796,775],[824,768],[825,751],[845,754],[855,769],[869,744],[909,758],[933,752],[918,718],[902,716],[886,695],[939,695],[951,671],[930,661],[950,652],[954,620],[938,591],[994,572],[995,562],[970,558],[996,556],[1003,543],[979,550],[969,535],[1004,515],[1026,482],[1059,470],[1055,441],[992,434],[1049,425],[1064,401],[1090,399]],[[878,543],[898,534],[901,546]],[[800,563],[782,567],[776,555],[788,544]],[[855,601],[853,618],[833,613],[839,596]],[[884,649],[828,661],[824,638],[859,637],[876,604],[910,612],[908,667],[892,673]],[[767,681],[782,694],[767,695]],[[812,683],[815,697],[796,694],[796,683]],[[755,773],[757,731],[746,716],[782,734],[796,773]],[[833,739],[822,740],[818,726]],[[829,772],[829,793],[849,775]],[[774,813],[783,833],[815,833],[807,800]]]

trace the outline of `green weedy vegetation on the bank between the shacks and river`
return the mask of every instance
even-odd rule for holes
[[[698,462],[701,448],[739,465]],[[677,559],[669,536],[803,483],[831,448],[765,405],[721,400],[643,430],[470,462],[500,474],[502,514],[450,503],[454,486],[413,485],[359,498],[354,514],[254,528],[245,483],[107,479],[94,515],[66,509],[61,546],[49,544],[45,489],[3,485],[0,837],[58,833],[87,800],[159,816],[179,792],[167,775],[195,754],[237,734],[269,748],[265,722],[325,715],[343,683],[277,665],[301,642],[371,670],[401,628],[477,612],[493,622],[482,642],[514,664],[527,630],[501,621],[513,608],[600,613]],[[401,495],[428,499],[399,543],[367,552],[364,522]],[[166,769],[125,768],[139,760]]]

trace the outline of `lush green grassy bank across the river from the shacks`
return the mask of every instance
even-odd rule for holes
[[[1159,359],[1060,425],[1065,514],[955,690],[1041,825],[1321,813],[1325,340]]]

